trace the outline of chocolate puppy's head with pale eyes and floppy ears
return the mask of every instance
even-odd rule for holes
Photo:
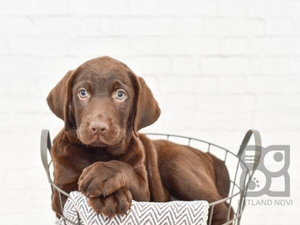
[[[68,71],[47,102],[64,120],[65,131],[95,147],[119,145],[128,135],[155,122],[160,109],[141,77],[110,57],[91,59]]]

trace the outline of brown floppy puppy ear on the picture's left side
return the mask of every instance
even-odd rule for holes
[[[47,97],[47,103],[51,111],[64,120],[64,129],[66,131],[75,123],[70,105],[74,74],[75,70],[68,71]]]

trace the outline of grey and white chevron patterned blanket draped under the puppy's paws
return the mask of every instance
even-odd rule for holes
[[[126,215],[107,218],[96,214],[87,204],[85,195],[78,191],[70,192],[64,208],[64,217],[74,224],[78,224],[77,212],[80,224],[85,225],[156,225],[156,224],[207,224],[207,201],[170,201],[170,202],[138,202],[132,201],[130,210]],[[62,218],[56,221],[56,225],[68,225]]]

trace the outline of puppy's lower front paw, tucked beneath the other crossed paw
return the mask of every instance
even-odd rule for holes
[[[88,204],[96,213],[101,213],[109,218],[125,214],[131,205],[130,191],[121,187],[106,197],[88,197]]]

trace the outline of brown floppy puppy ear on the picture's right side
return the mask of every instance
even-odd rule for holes
[[[135,99],[133,103],[133,132],[151,125],[160,115],[160,108],[144,79],[133,74]]]

